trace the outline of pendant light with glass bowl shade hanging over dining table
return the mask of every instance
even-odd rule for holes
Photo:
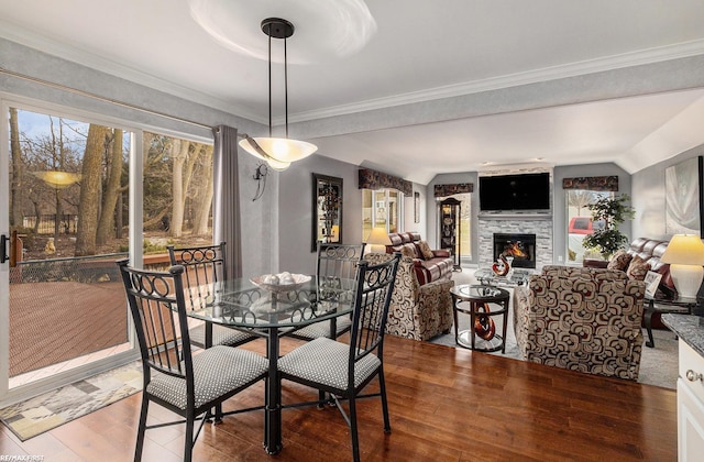
[[[315,153],[315,144],[288,138],[288,58],[286,38],[294,35],[294,24],[279,18],[262,21],[262,32],[268,36],[268,138],[251,138],[246,134],[240,146],[255,157],[265,161],[275,170],[285,170],[292,162]],[[284,105],[286,112],[286,138],[272,136],[272,38],[284,38]]]

